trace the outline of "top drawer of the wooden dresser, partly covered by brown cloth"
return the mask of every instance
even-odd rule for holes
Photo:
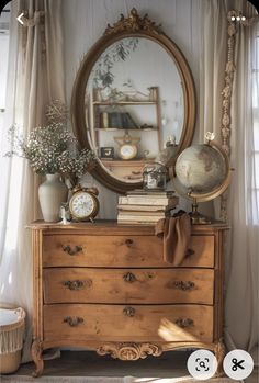
[[[44,235],[44,267],[170,267],[156,236]],[[181,267],[214,266],[214,236],[192,236]]]

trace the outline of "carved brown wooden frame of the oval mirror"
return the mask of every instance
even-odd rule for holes
[[[147,14],[144,15],[144,18],[140,18],[136,9],[131,11],[128,18],[124,18],[124,15],[121,14],[121,19],[114,23],[113,26],[108,24],[103,36],[97,41],[81,63],[75,80],[71,98],[71,119],[75,134],[81,147],[91,148],[87,134],[85,112],[85,95],[91,70],[100,55],[111,44],[123,37],[132,36],[146,37],[159,44],[165,48],[177,66],[182,85],[184,105],[183,127],[177,151],[180,153],[191,144],[194,133],[196,98],[192,74],[183,54],[179,47],[161,31],[160,25],[156,25],[155,22],[148,19]],[[108,170],[104,169],[100,159],[98,159],[97,166],[94,169],[90,170],[90,172],[100,183],[119,193],[125,193],[128,190],[143,187],[143,182],[130,183],[113,177],[108,172]]]

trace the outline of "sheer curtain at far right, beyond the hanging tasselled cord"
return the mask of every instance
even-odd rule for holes
[[[245,13],[246,12],[246,13]],[[251,16],[251,9],[244,9]],[[258,358],[259,23],[239,27],[233,97],[230,251],[226,278],[226,340]],[[238,317],[238,320],[237,320]],[[258,363],[258,360],[255,360]]]

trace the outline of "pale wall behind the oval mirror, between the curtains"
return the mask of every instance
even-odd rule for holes
[[[83,55],[102,35],[108,23],[116,22],[121,13],[127,15],[133,7],[140,15],[148,13],[157,24],[161,23],[165,33],[179,46],[190,65],[199,99],[200,0],[63,0],[63,7],[68,104],[70,104],[72,85]],[[199,126],[199,116],[196,126]],[[196,136],[198,128],[194,140]],[[117,195],[89,176],[85,181],[88,184],[98,185],[100,190],[100,217],[115,218]],[[181,207],[185,207],[184,202]]]

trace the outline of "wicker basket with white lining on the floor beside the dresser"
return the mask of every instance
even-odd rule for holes
[[[0,373],[19,369],[25,329],[23,308],[7,308],[0,305]]]

